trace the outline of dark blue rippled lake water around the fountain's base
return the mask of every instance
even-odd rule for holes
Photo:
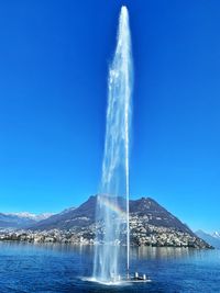
[[[91,277],[92,253],[85,246],[0,243],[0,293],[220,292],[220,250],[133,248],[131,270],[152,282],[127,286],[82,281]]]

